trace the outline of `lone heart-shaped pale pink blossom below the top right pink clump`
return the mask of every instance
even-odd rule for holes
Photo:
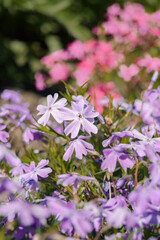
[[[125,82],[129,82],[133,76],[138,74],[138,72],[139,68],[135,64],[131,64],[129,67],[121,65],[119,76],[122,77]]]

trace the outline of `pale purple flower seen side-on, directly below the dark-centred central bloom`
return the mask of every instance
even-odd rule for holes
[[[76,157],[78,159],[82,159],[83,155],[87,155],[87,151],[94,150],[92,144],[84,141],[88,137],[79,136],[78,138],[70,141],[69,146],[65,149],[65,154],[63,155],[63,159],[67,161],[71,158],[73,151],[75,150]]]

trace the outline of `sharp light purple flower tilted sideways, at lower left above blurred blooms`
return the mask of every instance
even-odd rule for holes
[[[48,174],[52,172],[50,167],[45,167],[49,163],[49,160],[42,159],[37,167],[35,167],[35,162],[31,162],[28,172],[20,175],[21,181],[29,181],[33,179],[38,182],[38,177],[47,178]]]

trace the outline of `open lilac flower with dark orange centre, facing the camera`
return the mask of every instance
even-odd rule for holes
[[[88,105],[83,99],[79,102],[71,103],[72,109],[65,109],[63,120],[72,121],[65,128],[64,132],[66,135],[71,134],[71,138],[77,137],[80,130],[86,131],[88,134],[98,132],[97,127],[93,124],[94,118],[99,115],[91,104]]]

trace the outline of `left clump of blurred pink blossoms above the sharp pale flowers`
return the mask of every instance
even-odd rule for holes
[[[112,49],[110,43],[92,39],[84,43],[75,40],[66,50],[58,50],[45,56],[41,62],[49,68],[49,76],[53,83],[66,81],[72,76],[78,85],[82,85],[96,72],[110,72],[115,69],[121,58],[122,56]],[[78,60],[78,63],[72,67],[71,62],[74,60]],[[42,75],[35,77],[40,79]],[[36,80],[37,89],[41,89],[41,82],[41,79]]]

